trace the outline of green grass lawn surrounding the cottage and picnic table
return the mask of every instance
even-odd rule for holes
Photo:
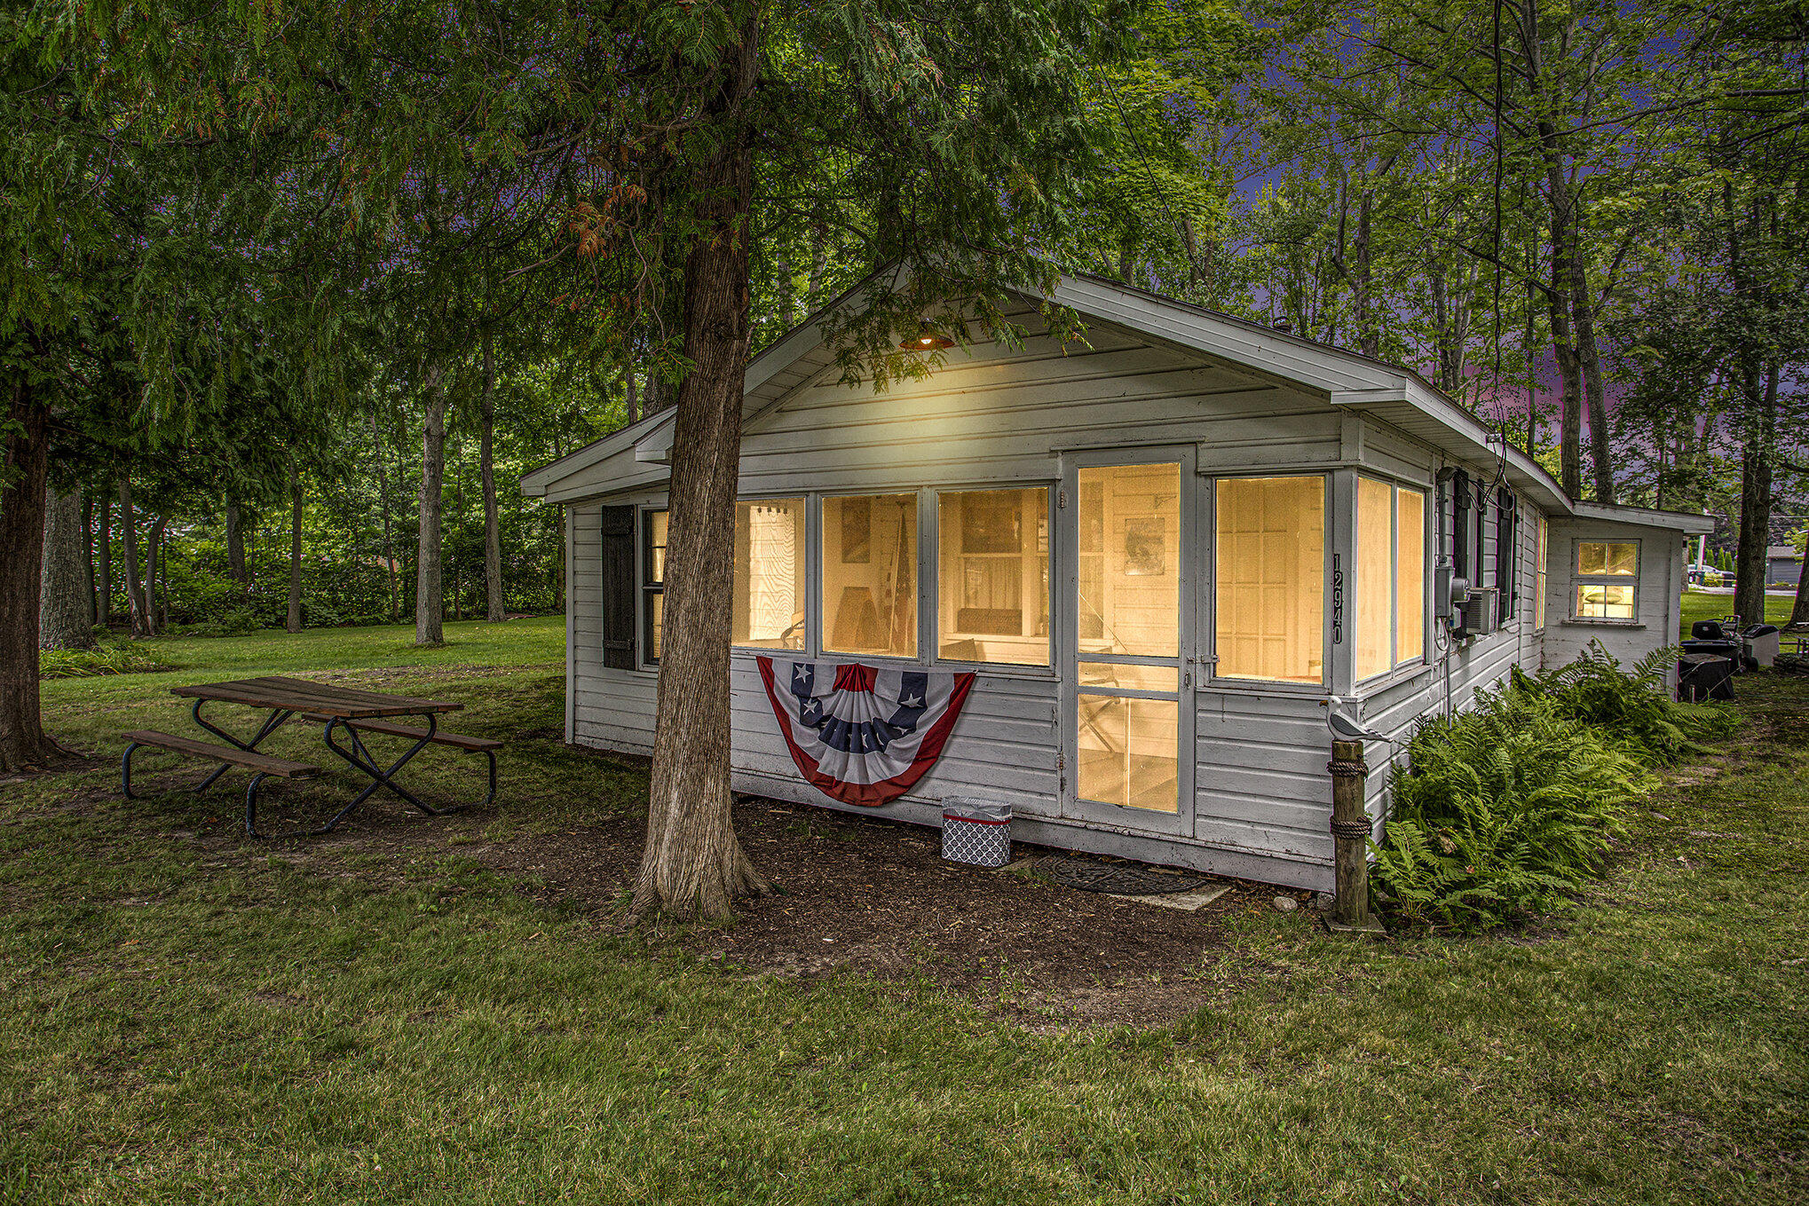
[[[166,687],[333,671],[512,740],[485,848],[631,828],[644,774],[559,743],[561,624],[447,633],[45,685],[98,761],[0,783],[0,1201],[1809,1201],[1809,682],[1742,680],[1740,736],[1574,915],[1353,944],[1252,893],[1178,1022],[1073,1029],[1022,1025],[1009,967],[756,975],[624,933],[470,828],[259,844],[233,790],[118,797],[114,734],[186,723]]]

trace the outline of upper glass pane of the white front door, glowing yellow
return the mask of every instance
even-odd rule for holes
[[[1082,653],[1179,656],[1181,466],[1080,470]]]

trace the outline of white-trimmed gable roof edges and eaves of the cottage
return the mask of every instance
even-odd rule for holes
[[[897,271],[901,269],[895,266],[885,268],[861,280],[754,356],[747,363],[742,394],[743,421],[778,405],[796,385],[830,367],[834,354],[823,344],[821,320],[847,307],[879,277]],[[1026,295],[1024,300],[1040,304],[1044,298]],[[1125,327],[1185,354],[1208,356],[1319,392],[1333,409],[1375,416],[1456,457],[1500,459],[1507,483],[1549,512],[1690,533],[1713,528],[1702,515],[1574,503],[1538,461],[1512,445],[1491,443],[1492,432],[1487,425],[1413,369],[1085,273],[1060,277],[1047,300],[1073,309],[1082,318]],[[521,492],[545,495],[555,481],[630,447],[637,461],[664,461],[673,441],[671,421],[673,410],[668,409],[604,436],[523,476]]]

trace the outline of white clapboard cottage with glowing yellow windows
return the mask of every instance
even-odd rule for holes
[[[1055,300],[1085,344],[953,349],[886,392],[841,385],[814,322],[749,365],[736,790],[847,806],[792,765],[756,655],[975,671],[879,814],[991,797],[1026,841],[1324,890],[1330,696],[1404,734],[1511,665],[1677,638],[1702,517],[1572,503],[1407,369],[1109,280]],[[566,508],[579,745],[653,747],[671,418],[523,479]]]

